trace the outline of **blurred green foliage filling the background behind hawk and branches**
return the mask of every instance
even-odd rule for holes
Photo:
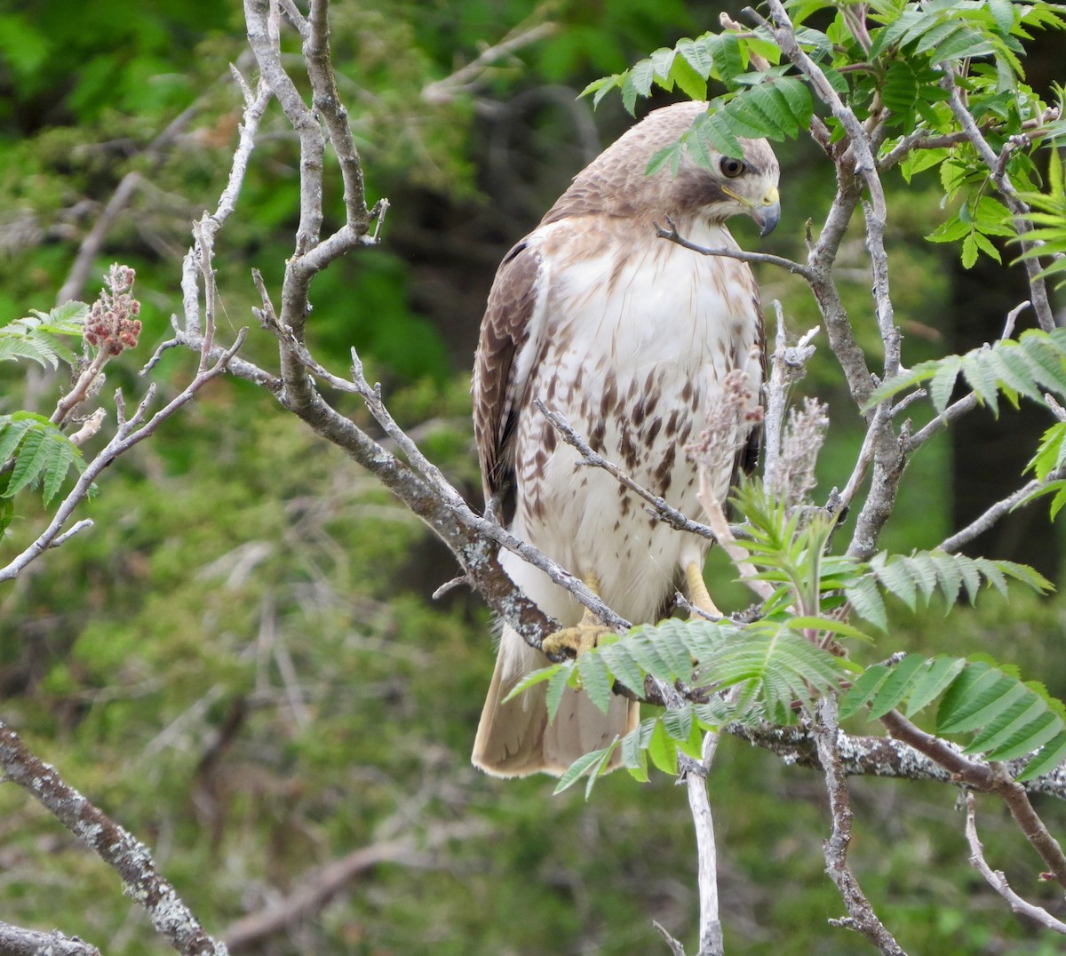
[[[401,424],[471,500],[468,367],[496,264],[629,123],[611,100],[592,117],[577,92],[716,19],[716,9],[682,0],[335,3],[341,92],[371,198],[388,196],[392,209],[379,247],[316,281],[312,349],[342,370],[354,344]],[[475,87],[448,85],[486,46],[545,22],[550,33]],[[133,265],[140,358],[165,340],[189,224],[216,200],[236,144],[228,64],[251,72],[243,33],[237,4],[204,0],[0,9],[4,321],[54,303],[80,243],[136,171],[133,199],[78,294],[91,301],[110,262]],[[291,32],[287,44],[295,63]],[[1029,62],[1041,68],[1038,50]],[[445,95],[424,95],[435,83]],[[779,151],[786,218],[766,247],[801,256],[804,223],[824,215],[831,182],[809,145]],[[216,249],[224,336],[249,322],[252,268],[279,281],[296,173],[294,137],[275,110]],[[964,274],[951,250],[922,242],[942,215],[935,183],[890,180],[905,360],[995,338],[1021,296],[1004,291],[1003,273]],[[336,180],[330,189],[326,228],[341,209]],[[738,232],[756,242],[744,224]],[[856,331],[875,353],[858,231],[840,264]],[[794,334],[817,324],[798,282],[771,272],[762,281]],[[268,335],[254,329],[245,350],[269,364]],[[54,402],[61,383],[9,364],[0,411]],[[156,377],[173,391],[193,367],[169,352]],[[110,368],[106,394],[143,392],[136,356]],[[830,357],[819,356],[802,391],[833,408],[824,495],[846,481],[862,433]],[[976,458],[973,440],[924,449],[883,544],[933,546],[965,520],[960,501],[980,511],[1015,487],[1034,447],[1018,422],[1001,422]],[[42,520],[23,498],[0,561]],[[1038,512],[982,542],[984,553],[1054,574],[1057,540]],[[470,767],[491,670],[488,615],[462,593],[431,602],[454,572],[443,548],[268,394],[214,383],[110,469],[82,513],[91,532],[0,588],[0,717],[152,845],[209,931],[306,886],[330,860],[390,841],[403,852],[247,951],[628,954],[661,951],[652,919],[682,937],[694,926],[691,821],[672,781],[615,775],[585,804],[576,791],[551,797],[544,778],[499,781]],[[727,569],[714,573],[718,594],[746,603]],[[1061,695],[1062,639],[1061,602],[1019,597],[947,621],[935,609],[915,619],[898,607],[890,639],[859,653],[987,649]],[[858,952],[857,938],[825,923],[842,906],[822,873],[820,777],[727,740],[712,794],[729,952]],[[967,865],[954,799],[943,787],[855,784],[854,860],[879,914],[911,952],[1056,952]],[[1062,832],[1063,809],[1040,809]],[[991,801],[980,810],[992,865],[1054,907],[1004,813]],[[109,954],[167,952],[114,875],[14,788],[0,788],[0,918],[59,926]]]

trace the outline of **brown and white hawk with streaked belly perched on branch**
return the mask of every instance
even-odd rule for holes
[[[762,312],[747,264],[660,239],[656,224],[671,220],[701,246],[737,248],[730,216],[752,216],[765,236],[780,214],[777,160],[763,140],[741,140],[743,159],[711,152],[705,167],[685,153],[676,175],[668,163],[646,175],[651,158],[706,110],[700,102],[655,110],[578,174],[500,264],[474,364],[486,502],[513,496],[511,531],[634,623],[658,619],[681,582],[694,603],[713,607],[701,571],[708,541],[648,515],[605,471],[581,467],[534,401],[652,493],[684,514],[701,513],[684,447],[730,371],[761,383]],[[750,456],[752,445],[738,458]],[[713,469],[720,500],[743,464],[730,458]],[[580,650],[595,642],[595,618],[582,616],[569,593],[511,552],[501,563],[566,628],[548,646]],[[504,623],[474,765],[501,777],[559,775],[636,727],[639,704],[623,697],[604,715],[567,688],[551,723],[545,684],[502,702],[547,663]]]

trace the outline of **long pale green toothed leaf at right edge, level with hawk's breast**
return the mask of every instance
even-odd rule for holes
[[[997,414],[1000,392],[1015,406],[1019,395],[1040,404],[1044,404],[1045,392],[1066,395],[1066,329],[1056,328],[1050,333],[1028,329],[1017,340],[1003,339],[962,356],[947,355],[919,362],[879,385],[867,408],[927,382],[933,407],[943,412],[959,374],[978,401]]]

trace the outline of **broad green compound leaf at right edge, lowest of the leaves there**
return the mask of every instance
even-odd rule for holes
[[[938,734],[973,733],[963,752],[1014,760],[1036,752],[1019,780],[1052,769],[1066,757],[1066,704],[1044,684],[985,660],[907,654],[867,668],[840,701],[846,718],[869,708],[875,719],[905,706],[908,717],[939,698]]]

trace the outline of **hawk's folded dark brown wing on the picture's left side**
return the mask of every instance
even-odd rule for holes
[[[472,385],[486,505],[512,490],[515,425],[544,343],[547,286],[544,258],[526,239],[500,263],[488,294]]]

